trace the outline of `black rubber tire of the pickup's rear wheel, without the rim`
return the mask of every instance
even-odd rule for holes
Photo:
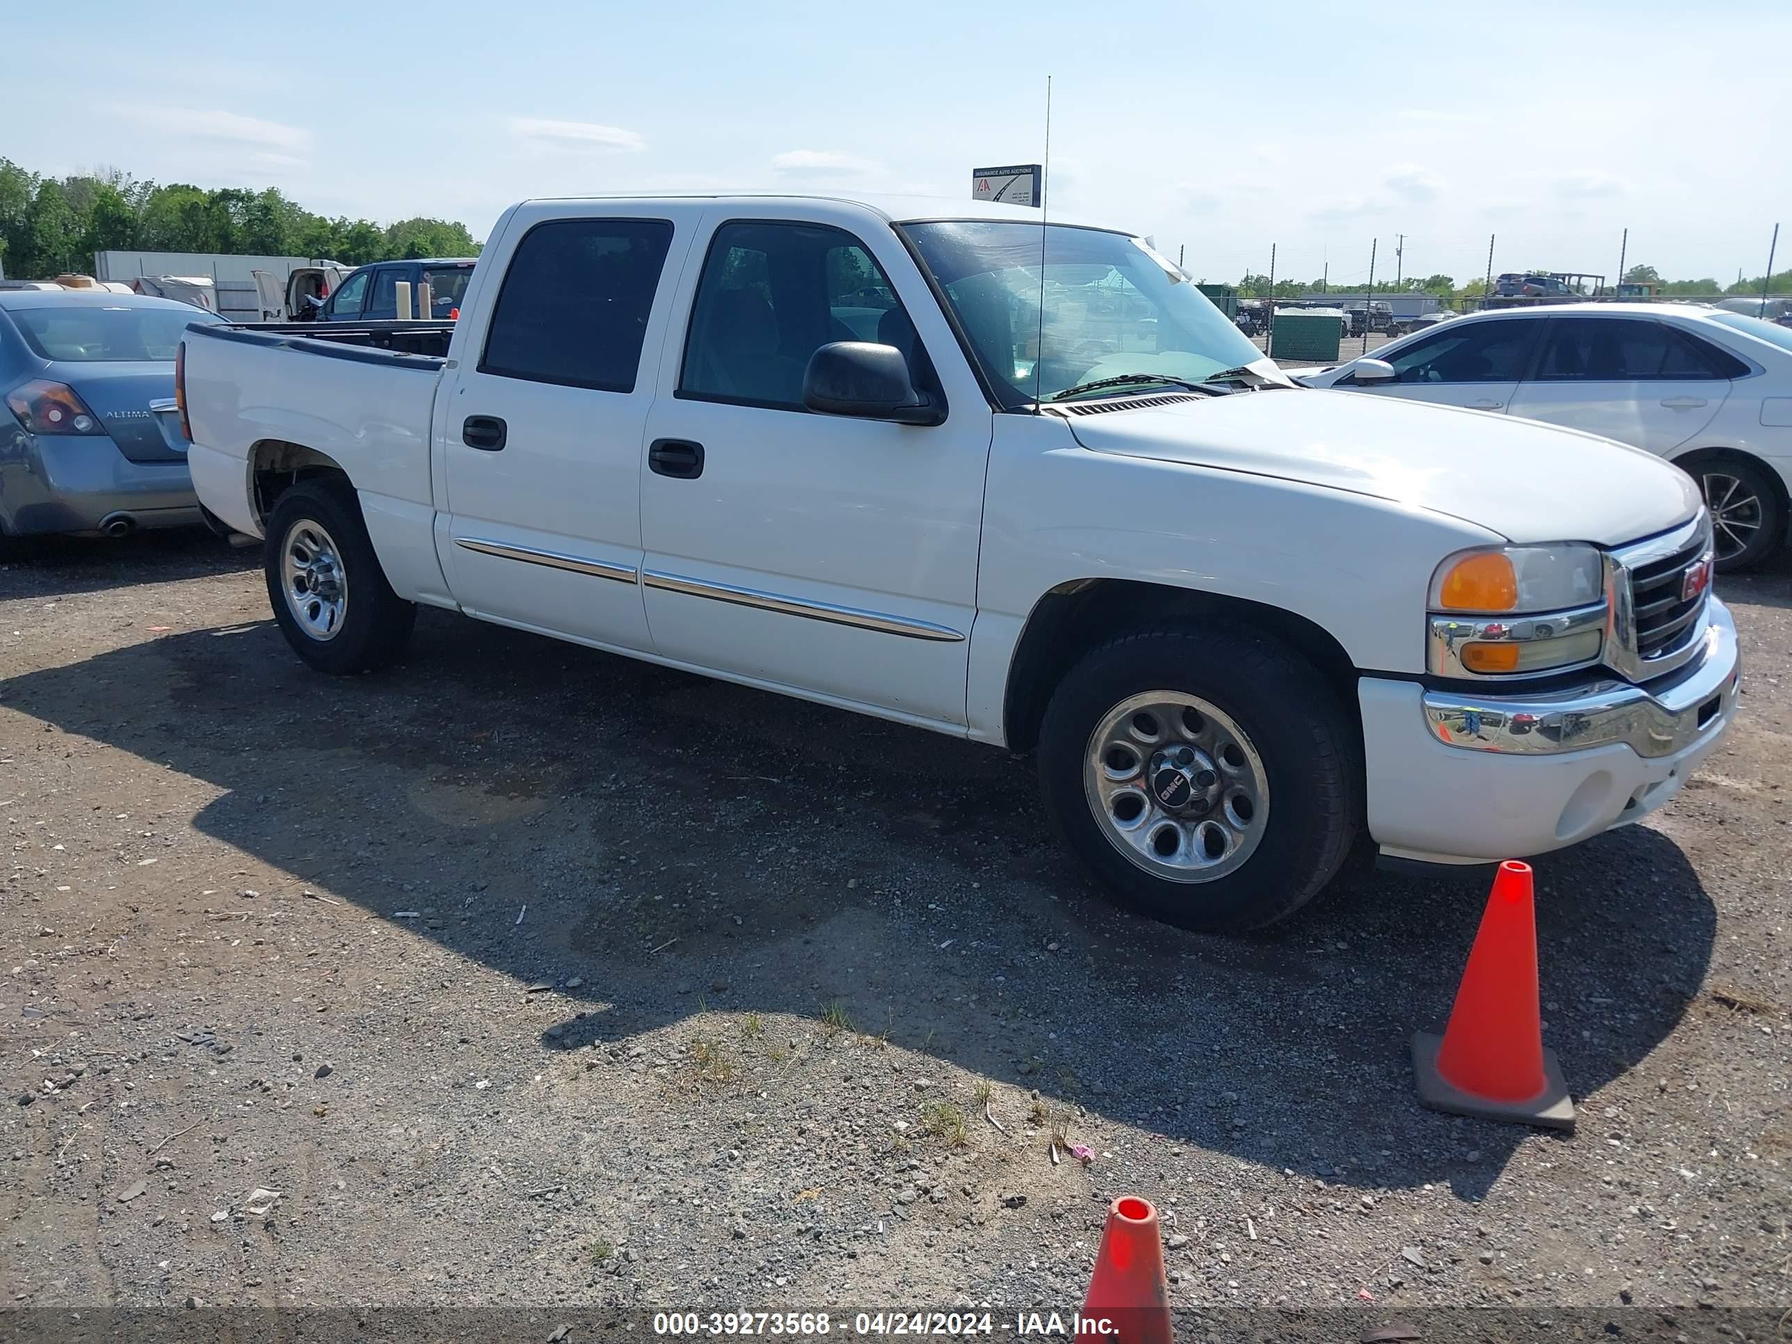
[[[340,624],[328,636],[314,634],[287,600],[285,548],[294,529],[312,523],[335,543],[337,568],[346,579]],[[348,482],[303,480],[274,502],[262,547],[267,600],[292,652],[319,672],[351,674],[385,667],[405,652],[418,607],[385,581],[380,557],[360,518],[360,502]]]

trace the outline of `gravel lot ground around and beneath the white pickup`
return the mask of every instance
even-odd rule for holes
[[[1002,753],[443,613],[326,679],[251,561],[0,568],[14,1305],[1066,1308],[1116,1192],[1177,1305],[1788,1297],[1792,564],[1726,747],[1538,866],[1566,1138],[1414,1100],[1475,882],[1183,934]]]

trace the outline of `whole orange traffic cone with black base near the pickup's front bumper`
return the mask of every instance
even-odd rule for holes
[[[1538,1012],[1529,864],[1500,864],[1443,1038],[1416,1032],[1419,1102],[1482,1120],[1573,1129],[1573,1102]]]

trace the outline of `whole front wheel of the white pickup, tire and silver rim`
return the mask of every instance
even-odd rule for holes
[[[1269,636],[1186,625],[1091,650],[1039,731],[1047,810],[1095,878],[1185,928],[1285,919],[1360,824],[1357,731],[1331,686]]]

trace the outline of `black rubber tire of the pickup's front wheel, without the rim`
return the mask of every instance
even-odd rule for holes
[[[1145,692],[1206,701],[1244,731],[1262,762],[1263,831],[1242,866],[1222,876],[1179,882],[1147,871],[1109,839],[1086,796],[1084,760],[1097,728]],[[1086,654],[1047,706],[1038,760],[1054,826],[1102,887],[1156,919],[1242,934],[1294,914],[1344,864],[1362,819],[1360,754],[1351,717],[1301,656],[1247,627],[1192,622]]]

